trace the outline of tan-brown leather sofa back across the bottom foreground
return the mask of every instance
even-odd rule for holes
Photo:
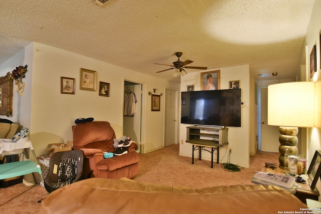
[[[194,189],[90,178],[50,193],[39,213],[294,213],[306,205],[276,186],[231,185]],[[297,212],[299,213],[299,212]],[[303,213],[303,212],[302,212]]]

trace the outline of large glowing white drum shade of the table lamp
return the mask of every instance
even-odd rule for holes
[[[269,85],[267,123],[275,126],[313,127],[314,82]]]

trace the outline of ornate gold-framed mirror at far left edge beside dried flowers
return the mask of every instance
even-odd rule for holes
[[[0,77],[0,115],[12,115],[13,79],[10,72]]]

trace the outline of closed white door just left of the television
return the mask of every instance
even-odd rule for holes
[[[165,107],[165,143],[169,146],[177,142],[177,92],[166,89]]]

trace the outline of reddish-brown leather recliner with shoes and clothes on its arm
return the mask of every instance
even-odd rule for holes
[[[127,147],[128,153],[104,158],[104,152],[113,152],[115,132],[107,121],[84,122],[72,126],[74,149],[84,152],[83,176],[119,179],[138,174],[137,144]]]

